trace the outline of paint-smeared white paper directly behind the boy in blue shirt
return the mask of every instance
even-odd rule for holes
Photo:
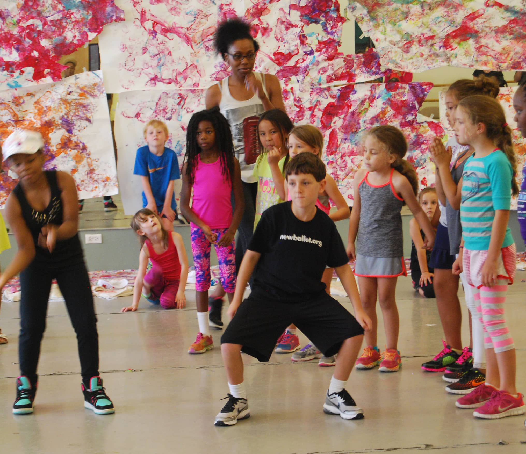
[[[186,151],[186,126],[190,117],[205,108],[205,92],[195,90],[143,90],[119,95],[115,114],[115,141],[118,149],[118,177],[124,213],[133,215],[143,208],[140,176],[134,175],[137,148],[146,145],[144,127],[151,119],[161,120],[168,127],[166,146],[183,164]],[[176,182],[177,183],[177,182]],[[176,184],[176,199],[180,184]]]

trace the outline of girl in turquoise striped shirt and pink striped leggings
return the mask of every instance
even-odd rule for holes
[[[470,145],[457,190],[462,244],[453,273],[466,273],[483,325],[485,382],[457,400],[460,408],[476,408],[485,419],[522,415],[524,402],[515,388],[515,347],[504,320],[508,285],[515,276],[517,253],[508,227],[511,195],[519,193],[517,162],[501,105],[488,96],[468,96],[455,113],[459,143]],[[444,166],[444,154],[437,154]]]

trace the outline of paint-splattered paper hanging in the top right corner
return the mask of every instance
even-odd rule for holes
[[[350,0],[349,11],[392,69],[526,69],[524,2]]]

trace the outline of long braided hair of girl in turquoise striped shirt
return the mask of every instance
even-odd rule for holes
[[[513,170],[511,193],[514,196],[519,194],[519,185],[515,180],[517,158],[513,150],[511,128],[506,123],[506,116],[502,106],[497,100],[488,96],[474,95],[462,99],[458,107],[464,109],[471,123],[474,125],[482,123],[486,127],[486,136],[493,140],[493,143],[504,152]]]

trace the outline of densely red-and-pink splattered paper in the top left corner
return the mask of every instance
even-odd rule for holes
[[[113,0],[3,0],[0,19],[0,89],[9,89],[60,80],[60,57],[124,15]]]

